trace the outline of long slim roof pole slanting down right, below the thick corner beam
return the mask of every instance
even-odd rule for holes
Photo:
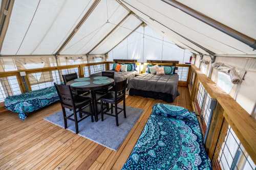
[[[198,43],[196,43],[196,42],[194,42],[194,41],[188,39],[187,37],[185,37],[185,36],[179,34],[178,32],[174,31],[173,29],[170,29],[169,27],[165,26],[162,22],[159,22],[158,20],[156,20],[156,19],[152,18],[151,16],[145,14],[144,12],[142,12],[142,11],[140,11],[139,9],[135,8],[135,7],[132,6],[131,4],[125,2],[124,0],[121,0],[121,1],[124,2],[125,4],[131,6],[132,8],[136,9],[137,11],[139,11],[139,12],[142,13],[142,14],[144,14],[145,16],[149,17],[149,18],[152,19],[153,21],[156,21],[156,22],[159,23],[161,26],[167,28],[168,30],[174,32],[175,34],[179,35],[180,37],[182,37],[182,38],[186,39],[187,41],[193,43],[194,45],[198,46],[199,48],[201,48],[201,49],[204,50],[205,52],[209,53],[209,55],[212,55],[212,56],[215,55],[214,52],[212,52],[212,51],[208,50],[207,48],[203,47],[202,45],[200,45],[200,44],[198,44]]]

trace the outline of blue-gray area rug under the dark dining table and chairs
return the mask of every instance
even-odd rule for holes
[[[122,105],[118,105],[118,107],[122,108]],[[115,109],[113,110],[113,114],[115,114]],[[71,112],[72,111],[66,109],[67,115],[69,115],[69,113],[71,114]],[[104,147],[117,151],[123,140],[139,119],[142,112],[143,109],[126,106],[126,118],[123,117],[123,112],[118,115],[118,127],[116,126],[116,118],[113,116],[104,114],[103,122],[101,121],[101,115],[99,115],[98,122],[91,122],[91,117],[89,116],[78,123],[78,134],[82,137],[97,142]],[[45,120],[62,128],[64,127],[62,111],[45,117]],[[75,133],[75,123],[68,120],[67,129]]]

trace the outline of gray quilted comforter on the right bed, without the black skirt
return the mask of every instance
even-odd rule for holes
[[[140,74],[130,81],[130,87],[137,90],[154,91],[178,95],[179,75]]]

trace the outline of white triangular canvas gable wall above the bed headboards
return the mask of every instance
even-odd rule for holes
[[[109,53],[108,61],[113,59],[135,59],[138,62],[175,60],[185,63],[189,61],[191,55],[189,51],[168,40],[165,34],[157,33],[149,26],[144,28],[141,26]]]

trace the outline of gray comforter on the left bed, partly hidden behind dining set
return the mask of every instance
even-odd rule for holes
[[[130,89],[130,81],[132,78],[135,77],[135,74],[137,71],[126,71],[126,72],[116,72],[114,70],[107,70],[110,72],[115,72],[114,80],[115,82],[122,81],[124,79],[127,79],[127,90]],[[92,74],[91,76],[101,76],[101,72],[97,72],[95,74]]]

